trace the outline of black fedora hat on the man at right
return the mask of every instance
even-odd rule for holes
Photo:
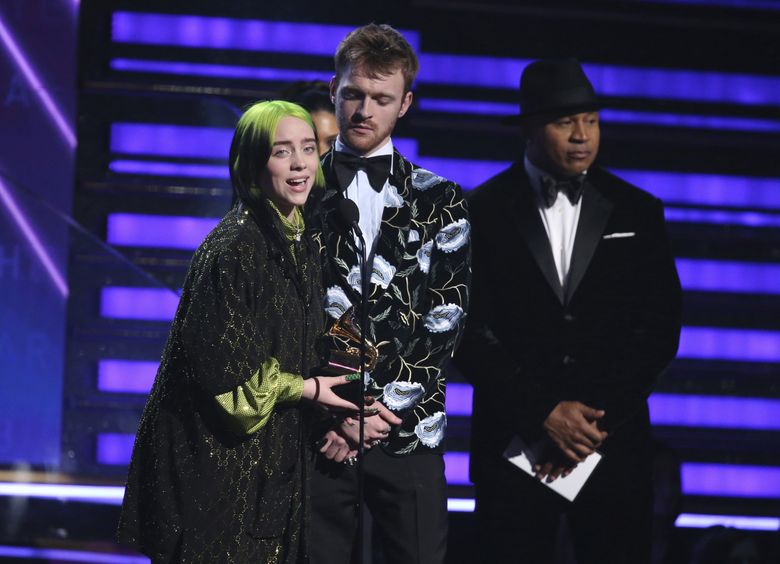
[[[522,123],[528,118],[555,119],[601,106],[576,59],[542,59],[523,69],[520,114],[504,119],[504,123]]]

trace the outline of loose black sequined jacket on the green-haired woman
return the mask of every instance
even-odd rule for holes
[[[270,209],[239,205],[195,252],[141,418],[118,531],[153,561],[304,561],[311,413],[277,406],[241,437],[214,399],[270,357],[304,376],[317,365],[319,259],[308,236],[296,245],[297,264]]]

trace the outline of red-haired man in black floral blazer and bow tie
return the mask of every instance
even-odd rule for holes
[[[397,120],[412,104],[417,56],[388,25],[347,35],[330,83],[339,137],[323,160],[326,187],[317,228],[327,257],[325,311],[332,326],[359,311],[360,245],[340,216],[353,200],[371,277],[370,371],[365,420],[365,503],[390,564],[437,564],[447,538],[442,440],[446,427],[442,365],[465,320],[470,279],[469,221],[459,186],[415,166],[393,146]],[[360,319],[360,316],[356,316]],[[342,418],[326,434],[312,478],[312,564],[350,561],[357,527],[359,425]]]

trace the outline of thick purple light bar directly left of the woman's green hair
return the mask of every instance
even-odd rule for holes
[[[224,127],[151,123],[111,124],[111,152],[129,155],[222,159],[233,130]]]

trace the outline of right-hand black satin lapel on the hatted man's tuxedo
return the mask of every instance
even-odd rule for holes
[[[571,301],[585,272],[588,270],[590,260],[604,233],[604,228],[612,213],[613,204],[596,188],[586,180],[585,190],[582,194],[582,209],[577,224],[577,234],[574,238],[574,251],[569,267],[569,280],[566,284],[566,302]]]

